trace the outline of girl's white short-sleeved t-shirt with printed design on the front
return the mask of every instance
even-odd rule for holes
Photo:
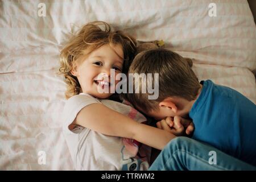
[[[146,118],[129,105],[111,100],[98,100],[86,93],[69,98],[63,111],[63,132],[77,170],[146,170],[149,167],[151,148],[137,141],[104,135],[76,125],[69,125],[79,111],[93,103],[101,103],[135,121],[142,123]],[[108,117],[108,116],[106,116]],[[120,121],[122,127],[122,121]],[[137,151],[134,150],[137,148]],[[135,151],[135,153],[134,153]],[[138,153],[137,153],[138,152]]]

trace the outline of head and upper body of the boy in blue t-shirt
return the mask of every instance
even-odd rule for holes
[[[171,123],[168,117],[190,117],[195,125],[193,139],[256,166],[255,104],[226,86],[210,80],[199,83],[188,60],[167,49],[139,53],[129,73],[158,73],[159,80],[152,79],[158,82],[159,97],[148,100],[148,92],[128,93],[127,100],[143,113],[163,119],[158,123],[162,129]],[[133,88],[146,84],[135,79]]]

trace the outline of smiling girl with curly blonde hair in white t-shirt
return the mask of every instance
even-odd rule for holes
[[[112,93],[98,90],[115,88],[118,80],[110,82],[110,69],[127,73],[135,52],[135,40],[105,22],[86,24],[61,51],[60,72],[68,85],[63,131],[76,169],[147,169],[147,150],[139,150],[135,140],[162,149],[175,138],[170,131],[144,125],[141,113],[106,100]]]

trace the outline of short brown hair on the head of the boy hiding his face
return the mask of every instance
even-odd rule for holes
[[[123,97],[137,109],[147,113],[159,110],[159,103],[167,97],[181,97],[188,101],[195,100],[200,88],[199,80],[192,71],[192,60],[184,58],[168,49],[156,48],[142,51],[135,56],[130,65],[129,73],[159,73],[159,97],[148,100],[150,93],[135,93],[135,88],[144,86],[141,80],[133,80],[133,93]],[[154,85],[154,76],[152,85]]]

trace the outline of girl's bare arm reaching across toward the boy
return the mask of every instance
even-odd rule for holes
[[[138,123],[98,103],[84,107],[74,123],[105,135],[135,139],[159,150],[176,137],[166,130]]]

